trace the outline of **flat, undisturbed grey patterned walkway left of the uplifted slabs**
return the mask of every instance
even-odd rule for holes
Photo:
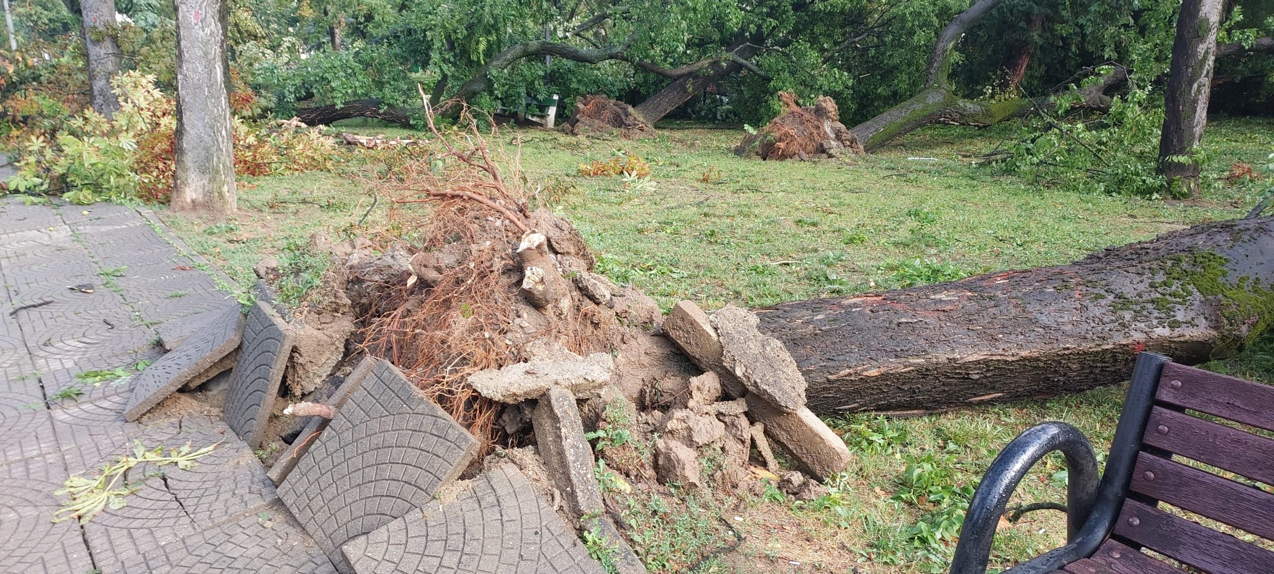
[[[145,210],[15,197],[0,199],[0,571],[335,571],[219,417],[159,409],[126,423],[126,379],[76,381],[155,359],[154,327],[167,321],[237,305],[217,288],[224,277]],[[84,284],[92,293],[69,289]],[[83,395],[59,398],[69,387]],[[124,508],[54,523],[61,482],[135,440],[219,444],[189,470],[134,468]]]

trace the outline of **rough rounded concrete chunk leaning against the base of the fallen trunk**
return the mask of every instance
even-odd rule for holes
[[[805,377],[777,339],[757,330],[761,319],[747,309],[726,305],[712,313],[721,341],[721,363],[757,395],[784,412],[805,406]]]

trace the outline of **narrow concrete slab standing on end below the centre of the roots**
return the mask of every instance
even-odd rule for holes
[[[562,493],[567,514],[578,522],[586,514],[605,510],[592,473],[592,447],[583,438],[575,395],[562,387],[550,388],[535,406],[531,421],[536,448],[553,486]]]

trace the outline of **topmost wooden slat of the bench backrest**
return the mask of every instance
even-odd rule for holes
[[[1192,367],[1163,365],[1159,401],[1245,425],[1274,430],[1274,387],[1209,373]]]

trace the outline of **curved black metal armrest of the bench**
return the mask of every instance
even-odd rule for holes
[[[985,574],[991,540],[1018,482],[1041,458],[1054,451],[1066,457],[1066,538],[1073,540],[1097,500],[1097,458],[1079,429],[1065,423],[1043,423],[1013,439],[995,457],[964,515],[952,574]]]

